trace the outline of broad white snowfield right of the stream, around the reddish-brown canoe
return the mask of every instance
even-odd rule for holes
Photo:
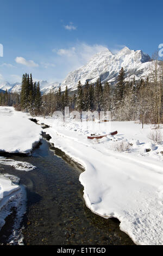
[[[137,245],[163,244],[163,144],[148,138],[154,126],[130,122],[92,124],[37,118],[54,146],[85,167],[80,174],[86,205],[105,218],[116,217],[120,229]],[[115,136],[87,139],[91,133]],[[163,129],[160,129],[163,135]],[[123,142],[123,143],[122,143]],[[127,151],[117,151],[127,144]],[[146,149],[151,151],[147,152]]]

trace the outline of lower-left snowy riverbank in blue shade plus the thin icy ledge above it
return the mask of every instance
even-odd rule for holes
[[[1,165],[2,164],[2,165]],[[15,161],[0,157],[0,172],[3,165],[11,166],[14,169],[29,172],[36,167],[27,162]],[[22,245],[21,221],[26,212],[26,189],[19,185],[20,179],[10,174],[0,174],[0,230],[5,224],[5,218],[15,210],[14,226],[12,234],[8,237],[10,245]]]

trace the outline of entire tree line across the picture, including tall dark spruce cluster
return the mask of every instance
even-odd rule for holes
[[[65,91],[61,87],[54,92],[42,95],[39,82],[33,82],[32,74],[23,74],[21,94],[0,93],[1,105],[15,105],[18,110],[32,115],[52,115],[54,111],[111,111],[112,119],[119,121],[142,120],[146,123],[160,123],[163,112],[163,69],[162,62],[155,60],[151,64],[148,77],[129,80],[126,71],[121,68],[116,83],[102,84],[98,78],[96,83],[78,82],[77,91]],[[161,100],[162,96],[162,100]]]

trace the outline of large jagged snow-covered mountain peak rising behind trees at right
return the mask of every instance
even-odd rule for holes
[[[67,86],[71,90],[76,89],[79,80],[82,84],[85,84],[86,80],[95,83],[97,78],[101,78],[102,83],[114,83],[122,66],[128,77],[135,75],[135,78],[139,79],[143,72],[147,71],[151,61],[148,54],[141,50],[130,50],[128,47],[116,54],[109,50],[102,51],[95,54],[82,68],[70,72],[61,83],[61,88],[65,89]]]

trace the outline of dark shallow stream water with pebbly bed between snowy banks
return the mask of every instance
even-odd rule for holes
[[[14,174],[27,186],[27,214],[22,223],[24,244],[134,245],[129,236],[120,231],[116,219],[106,220],[85,206],[83,186],[79,182],[82,170],[60,150],[53,148],[52,151],[45,139],[41,143],[30,157],[11,157],[32,163],[37,167],[35,170],[23,172],[1,166],[1,173]],[[12,218],[8,219],[11,222]],[[9,227],[1,230],[0,243],[2,231],[8,234]]]

